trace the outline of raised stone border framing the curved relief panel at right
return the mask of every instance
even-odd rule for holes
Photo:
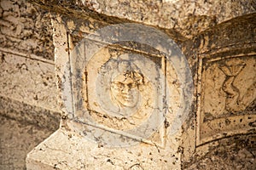
[[[255,51],[255,45],[253,44],[253,51]],[[256,114],[250,115],[235,115],[235,116],[228,116],[228,117],[219,117],[213,119],[212,121],[203,122],[202,114],[203,112],[203,100],[202,100],[202,88],[204,88],[204,83],[202,82],[203,74],[205,74],[205,69],[203,68],[204,64],[211,63],[218,60],[223,59],[233,59],[233,58],[241,58],[241,57],[255,57],[255,52],[244,53],[238,52],[236,54],[229,54],[232,51],[223,51],[222,53],[224,56],[222,57],[212,57],[218,56],[218,54],[222,54],[221,52],[212,53],[212,54],[200,54],[199,55],[199,64],[198,64],[198,80],[197,80],[197,111],[196,111],[196,146],[200,146],[201,144],[207,144],[217,139],[222,139],[225,137],[229,137],[232,135],[236,135],[239,133],[250,133],[255,132],[256,128],[250,126],[252,123],[255,124]],[[229,118],[229,123],[227,123],[227,118]],[[242,121],[243,120],[243,121]],[[253,122],[254,121],[254,122]],[[237,123],[239,122],[239,123]],[[248,123],[249,122],[249,123]],[[214,128],[213,125],[218,123],[219,127]],[[251,123],[251,124],[250,124]],[[228,126],[227,126],[228,125]],[[235,129],[235,130],[234,130]],[[202,138],[201,131],[210,133],[209,136]]]

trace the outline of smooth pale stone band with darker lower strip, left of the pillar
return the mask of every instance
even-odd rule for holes
[[[58,127],[61,114],[52,61],[6,48],[0,54],[1,115],[40,127]]]

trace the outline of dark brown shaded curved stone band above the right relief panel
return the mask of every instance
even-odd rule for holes
[[[249,52],[253,49],[252,43],[255,42],[255,17],[255,13],[247,14],[212,26],[191,40],[183,42],[183,51],[188,57],[193,58],[195,54],[214,54],[232,50]],[[195,58],[193,60],[196,61]]]

